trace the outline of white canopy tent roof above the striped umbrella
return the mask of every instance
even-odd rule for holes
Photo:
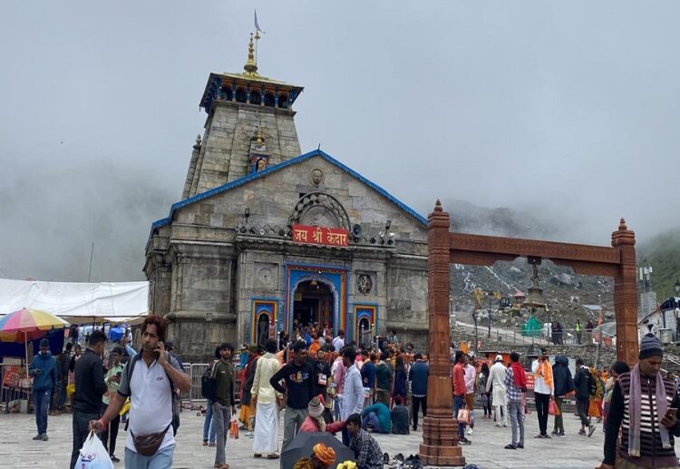
[[[0,316],[41,309],[69,322],[127,322],[149,312],[149,282],[43,282],[0,278]]]

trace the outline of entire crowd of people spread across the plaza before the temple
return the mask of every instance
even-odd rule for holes
[[[241,347],[238,357],[229,343],[217,347],[207,371],[213,391],[203,433],[203,445],[216,447],[214,467],[228,469],[228,435],[238,402],[238,421],[253,437],[254,458],[278,459],[300,432],[328,432],[341,435],[359,469],[378,469],[385,462],[384,453],[371,433],[407,435],[418,429],[421,413],[427,415],[426,354],[415,352],[411,344],[403,347],[396,334],[379,344],[357,346],[345,344],[343,331],[335,337],[325,328],[301,332],[295,340],[279,337],[279,341],[268,339],[263,347]],[[51,356],[49,343],[43,340],[29,367],[34,378],[34,440],[47,440],[47,409],[51,402],[63,405],[68,382],[63,376],[72,370],[71,466],[91,430],[101,434],[112,461],[118,461],[116,439],[121,415],[127,415],[125,466],[169,467],[179,426],[179,396],[189,391],[190,380],[179,357],[167,350],[165,336],[162,318],[146,318],[140,353],[123,339],[106,362],[102,356],[107,337],[100,330],[88,337],[84,352],[80,345],[69,343],[58,358]],[[581,424],[578,435],[590,437],[596,424],[602,424],[602,469],[615,464],[676,467],[673,436],[680,435],[680,398],[677,379],[660,372],[662,357],[658,339],[648,334],[633,370],[624,362],[597,370],[578,358],[572,376],[568,357],[555,357],[551,364],[545,347],[530,364],[525,361],[526,367],[517,352],[499,354],[489,366],[486,360],[452,347],[452,415],[458,422],[458,441],[471,444],[475,408],[481,405],[483,418],[510,426],[506,449],[525,448],[531,387],[539,426],[534,438],[566,436],[563,404],[573,398]],[[51,401],[54,395],[56,400]],[[279,453],[281,410],[285,415]],[[550,434],[549,415],[554,415]],[[332,448],[319,445],[297,467],[329,467],[335,463],[334,454]]]

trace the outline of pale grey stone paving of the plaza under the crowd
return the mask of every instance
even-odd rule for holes
[[[479,411],[477,411],[479,414]],[[538,433],[536,414],[527,415],[526,449],[510,451],[503,449],[510,443],[510,428],[497,428],[490,420],[479,419],[470,438],[472,445],[463,446],[463,454],[468,464],[477,464],[481,469],[523,468],[523,469],[583,469],[592,468],[602,457],[604,434],[597,425],[591,437],[577,435],[578,419],[565,415],[567,437],[550,440],[534,439]],[[549,418],[549,431],[552,430],[552,417]],[[182,413],[175,450],[174,468],[210,468],[215,458],[215,449],[201,445],[203,418],[195,412]],[[279,427],[278,441],[282,440],[283,429]],[[35,442],[34,415],[0,414],[0,466],[2,467],[41,467],[44,469],[68,467],[71,453],[71,415],[49,417],[48,442]],[[402,453],[404,456],[415,454],[422,440],[419,430],[411,435],[375,435],[376,440],[392,457]],[[122,457],[125,432],[119,435],[119,456]],[[227,462],[234,468],[278,469],[278,461],[254,459],[252,439],[243,432],[238,440],[227,443]],[[122,462],[115,464],[122,468]]]

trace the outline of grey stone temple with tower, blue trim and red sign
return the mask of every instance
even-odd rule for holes
[[[427,220],[324,151],[301,154],[302,91],[257,72],[252,37],[243,73],[209,75],[203,136],[144,265],[187,361],[309,322],[425,345]]]

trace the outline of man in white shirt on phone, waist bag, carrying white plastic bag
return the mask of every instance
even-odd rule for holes
[[[191,380],[181,370],[180,363],[165,351],[166,323],[160,316],[150,316],[141,325],[141,354],[131,357],[121,375],[121,386],[111,397],[111,403],[99,420],[92,420],[90,428],[102,432],[121,411],[130,397],[130,426],[125,442],[125,467],[171,467],[175,438],[172,426],[173,387],[189,392]],[[132,372],[128,369],[134,364]],[[160,434],[162,440],[150,455],[140,454],[134,436]]]

